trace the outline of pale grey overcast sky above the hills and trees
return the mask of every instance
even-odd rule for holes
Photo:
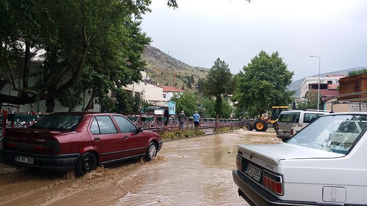
[[[261,50],[278,51],[294,80],[367,66],[367,0],[152,0],[141,28],[151,45],[189,65],[217,57],[237,73]]]

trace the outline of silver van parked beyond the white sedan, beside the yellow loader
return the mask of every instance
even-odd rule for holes
[[[280,113],[278,119],[278,130],[276,131],[276,137],[282,139],[282,141],[288,140],[292,137],[291,129],[293,125],[307,125],[312,121],[318,119],[324,114],[329,112],[317,111],[317,110],[289,110]]]

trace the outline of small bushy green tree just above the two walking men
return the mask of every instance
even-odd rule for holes
[[[176,102],[176,113],[179,114],[184,110],[186,116],[193,115],[198,109],[196,102],[197,97],[191,92],[184,92],[181,95],[174,95],[171,101]]]

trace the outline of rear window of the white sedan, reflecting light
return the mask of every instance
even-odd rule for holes
[[[367,125],[367,115],[323,116],[286,143],[346,154]]]

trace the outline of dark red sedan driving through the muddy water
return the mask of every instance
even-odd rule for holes
[[[7,165],[71,171],[82,176],[97,165],[157,155],[159,134],[143,131],[119,114],[53,113],[29,128],[7,130],[1,158]]]

